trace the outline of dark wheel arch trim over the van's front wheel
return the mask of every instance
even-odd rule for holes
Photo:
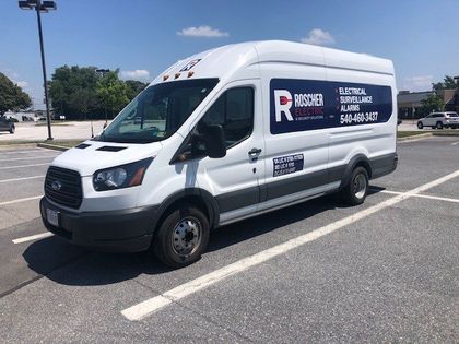
[[[173,204],[186,201],[189,198],[199,198],[202,201],[205,206],[205,211],[209,214],[209,223],[211,227],[219,223],[219,204],[216,203],[214,197],[209,191],[200,188],[185,188],[170,194],[160,204],[153,216],[153,224],[151,228],[153,228],[153,230],[156,229],[160,220]]]

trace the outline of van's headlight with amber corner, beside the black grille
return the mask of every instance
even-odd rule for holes
[[[149,157],[131,164],[97,170],[93,175],[94,190],[106,191],[140,186],[152,161],[153,157]]]

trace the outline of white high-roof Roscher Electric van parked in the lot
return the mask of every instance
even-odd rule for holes
[[[392,62],[287,41],[224,46],[158,75],[95,140],[58,156],[46,227],[85,247],[184,266],[211,228],[396,169]]]

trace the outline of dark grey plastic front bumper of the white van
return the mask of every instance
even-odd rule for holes
[[[139,252],[153,237],[157,206],[73,213],[51,204],[46,197],[39,204],[45,227],[71,244],[103,251]],[[47,220],[47,209],[57,212],[58,226]]]

